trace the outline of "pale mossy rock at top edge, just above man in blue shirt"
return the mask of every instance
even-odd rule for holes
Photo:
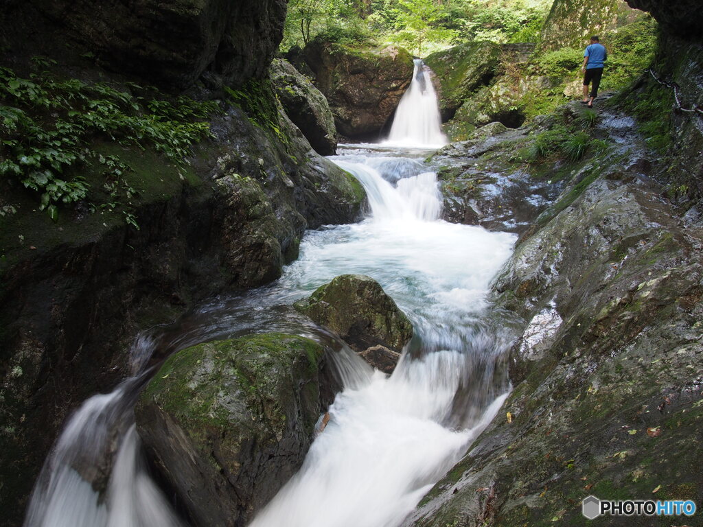
[[[631,13],[624,0],[555,0],[542,27],[541,46],[585,48],[588,37],[616,29]]]

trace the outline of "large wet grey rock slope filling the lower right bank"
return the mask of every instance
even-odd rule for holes
[[[601,118],[610,153],[565,182],[495,283],[524,320],[515,387],[406,525],[579,525],[587,495],[703,497],[703,228],[647,175],[634,121]]]

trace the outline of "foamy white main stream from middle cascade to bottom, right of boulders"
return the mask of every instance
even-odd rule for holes
[[[415,328],[392,377],[340,393],[302,469],[251,527],[392,527],[465,452],[500,408],[506,342],[480,322],[514,235],[441,221],[432,172],[400,178],[372,154],[334,157],[368,193],[372,216],[309,233],[280,287],[298,296],[342,273],[378,280]]]

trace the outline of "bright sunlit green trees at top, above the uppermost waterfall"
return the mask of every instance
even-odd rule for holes
[[[290,0],[281,47],[319,34],[400,44],[420,56],[466,41],[537,42],[548,8],[546,0]]]

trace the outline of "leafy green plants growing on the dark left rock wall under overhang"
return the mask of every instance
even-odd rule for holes
[[[35,57],[32,63],[46,67],[52,61]],[[184,97],[165,100],[135,84],[130,89],[148,97],[108,84],[59,80],[48,72],[24,79],[0,67],[0,176],[37,193],[39,209],[56,219],[61,204],[88,197],[82,167],[103,167],[110,184],[130,170],[116,157],[93,150],[96,140],[142,149],[149,145],[182,167],[191,145],[209,135],[209,124],[198,119],[217,105]],[[129,212],[126,219],[135,223]]]

